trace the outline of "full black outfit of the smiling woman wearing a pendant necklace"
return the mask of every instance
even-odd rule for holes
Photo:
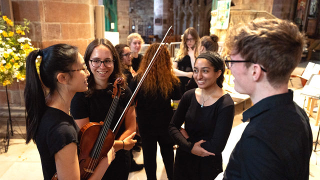
[[[232,128],[234,102],[229,94],[222,95],[209,106],[201,107],[195,89],[186,91],[169,124],[169,134],[179,145],[175,153],[174,179],[214,179],[222,172],[222,155]],[[189,135],[185,139],[179,129]],[[191,153],[195,142],[206,140],[201,147],[214,153],[206,157]]]

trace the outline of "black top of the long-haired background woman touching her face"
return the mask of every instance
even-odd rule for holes
[[[182,59],[178,59],[175,62],[177,62],[177,69],[184,71],[184,72],[192,72],[192,65],[191,65],[191,59],[189,55],[185,55]],[[185,85],[189,82],[190,78],[185,76],[178,76],[181,81],[181,91],[182,93],[185,90]]]

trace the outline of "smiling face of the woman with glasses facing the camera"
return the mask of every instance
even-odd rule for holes
[[[113,60],[113,56],[110,49],[104,45],[96,46],[90,55],[90,60],[105,61],[108,59]],[[89,68],[93,74],[97,88],[107,84],[109,76],[113,72],[113,67],[113,64],[111,66],[105,66],[104,63],[101,63],[99,67],[93,67],[92,63],[89,61]]]

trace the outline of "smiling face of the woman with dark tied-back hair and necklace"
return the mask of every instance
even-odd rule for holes
[[[214,67],[205,58],[197,58],[194,63],[193,78],[199,88],[208,89],[216,86],[216,79],[221,70],[214,71]]]

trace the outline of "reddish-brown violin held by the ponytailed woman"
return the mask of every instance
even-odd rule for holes
[[[107,152],[114,143],[114,134],[109,129],[121,95],[122,77],[118,77],[113,83],[112,103],[104,122],[88,122],[78,132],[78,160],[81,179],[88,179],[93,173],[99,161],[107,156]],[[95,140],[94,140],[95,139]],[[51,180],[58,179],[57,173]]]

